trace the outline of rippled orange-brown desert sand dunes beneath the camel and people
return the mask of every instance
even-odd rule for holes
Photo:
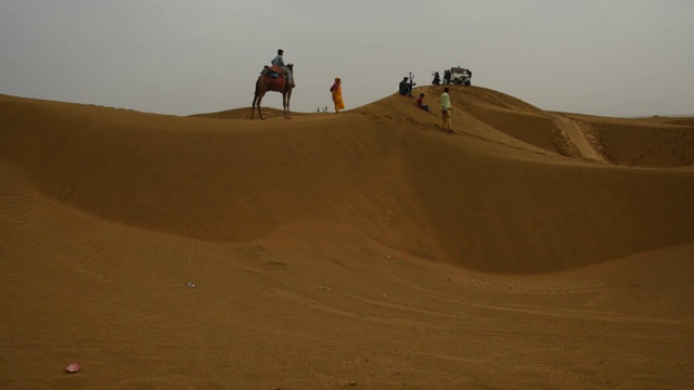
[[[441,90],[0,95],[0,388],[694,388],[694,118]]]

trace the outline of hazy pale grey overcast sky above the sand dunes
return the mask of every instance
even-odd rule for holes
[[[463,66],[543,109],[694,115],[692,0],[0,0],[0,93],[191,115],[250,106],[278,49],[292,108]],[[264,106],[281,107],[281,95]]]

